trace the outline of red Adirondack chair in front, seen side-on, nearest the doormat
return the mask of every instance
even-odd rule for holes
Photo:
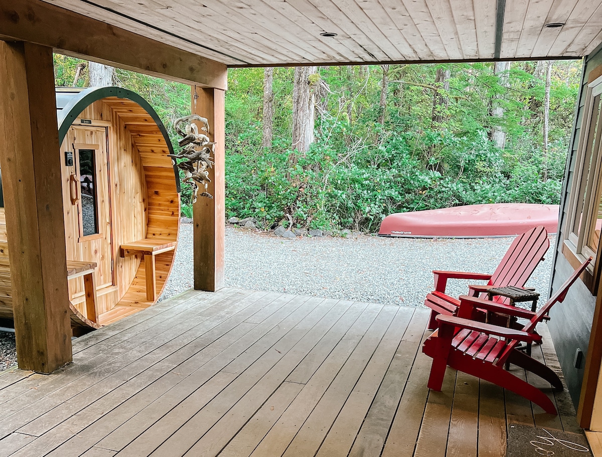
[[[424,342],[422,351],[433,358],[430,368],[429,388],[441,390],[445,367],[477,376],[511,390],[536,405],[546,413],[557,414],[551,400],[536,387],[504,370],[504,364],[520,366],[550,382],[554,388],[562,390],[560,378],[549,367],[535,360],[523,351],[518,351],[521,342],[541,342],[541,336],[534,333],[535,326],[545,319],[550,308],[565,299],[569,287],[577,280],[591,262],[592,257],[582,263],[566,280],[562,287],[537,313],[522,308],[504,305],[476,297],[460,297],[461,316],[470,316],[476,307],[498,313],[511,314],[529,319],[522,330],[498,327],[497,325],[465,319],[456,316],[437,316],[439,329]]]

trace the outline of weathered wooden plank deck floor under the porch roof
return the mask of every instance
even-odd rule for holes
[[[450,369],[429,392],[427,314],[188,291],[75,340],[60,372],[0,376],[0,457],[500,457],[508,422],[578,430],[566,393],[549,416]]]

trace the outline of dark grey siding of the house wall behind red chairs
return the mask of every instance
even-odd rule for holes
[[[562,241],[565,238],[564,226],[569,206],[568,202],[571,198],[571,186],[576,166],[576,152],[579,146],[579,130],[583,121],[586,89],[590,73],[600,65],[602,65],[602,47],[598,46],[592,54],[585,58],[583,63],[581,90],[575,112],[570,153],[566,159],[565,179],[560,201],[559,233],[556,237],[556,247],[554,250],[553,273],[550,279],[549,290],[550,296],[553,292],[556,292],[560,285],[573,272],[573,268],[562,254]],[[565,301],[554,305],[550,312],[551,321],[548,326],[558,354],[560,366],[562,366],[562,372],[566,379],[566,385],[576,407],[579,403],[581,393],[583,366],[579,368],[574,366],[575,354],[577,349],[581,349],[583,354],[587,355],[595,301],[596,298],[589,292],[589,289],[581,281],[577,281],[569,290]]]

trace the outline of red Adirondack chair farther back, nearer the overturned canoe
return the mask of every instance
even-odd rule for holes
[[[549,247],[548,232],[543,225],[539,225],[514,239],[493,274],[433,270],[435,290],[429,293],[424,300],[424,305],[432,310],[430,312],[429,329],[437,328],[438,324],[435,318],[438,314],[457,315],[460,301],[445,293],[448,279],[488,281],[487,284],[469,286],[469,294],[472,296],[483,295],[483,292],[489,287],[523,287],[533,270],[539,265],[539,262],[544,260],[544,254]],[[499,296],[495,297],[494,300],[504,302],[504,298]]]

